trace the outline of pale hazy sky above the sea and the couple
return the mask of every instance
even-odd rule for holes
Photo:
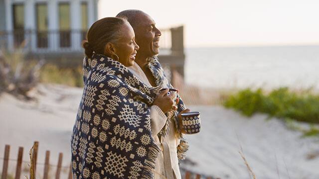
[[[319,44],[319,0],[100,0],[99,18],[141,9],[185,25],[186,47]]]

